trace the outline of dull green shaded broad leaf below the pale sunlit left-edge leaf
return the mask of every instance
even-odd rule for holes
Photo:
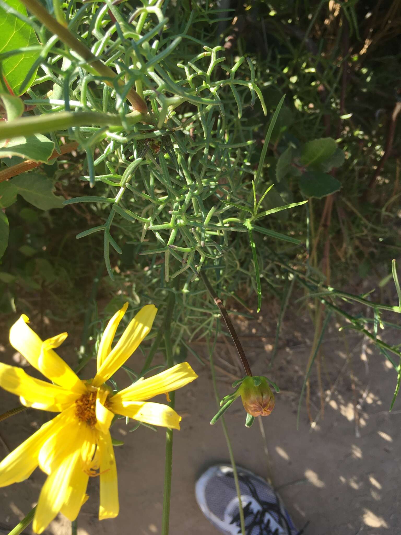
[[[63,208],[64,198],[53,194],[53,181],[42,174],[20,174],[14,177],[11,183],[17,187],[18,194],[36,208],[41,210]]]

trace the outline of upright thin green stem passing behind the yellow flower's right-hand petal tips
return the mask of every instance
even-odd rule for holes
[[[179,277],[176,278],[176,281]],[[175,305],[175,293],[171,292],[168,296],[166,313],[164,316],[164,342],[166,345],[167,366],[171,368],[173,362],[173,346],[171,343],[171,318],[173,317]],[[169,406],[174,409],[175,392],[170,394],[171,401]],[[173,430],[167,429],[166,433],[166,464],[164,471],[164,491],[163,491],[163,514],[161,517],[161,535],[168,535],[170,521],[170,499],[171,499],[171,473],[173,467]]]

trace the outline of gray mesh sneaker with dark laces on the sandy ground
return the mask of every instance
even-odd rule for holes
[[[300,535],[273,488],[249,470],[237,467],[237,471],[246,535]],[[241,533],[231,465],[208,468],[196,482],[195,495],[202,513],[219,531],[226,535]]]

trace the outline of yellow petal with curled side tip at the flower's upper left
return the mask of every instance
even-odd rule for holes
[[[27,325],[28,321],[29,318],[22,314],[11,327],[11,345],[48,379],[67,390],[83,394],[85,387],[81,379],[53,351],[53,348],[58,347],[65,340],[64,333],[42,342],[38,335]],[[43,343],[44,346],[42,348]]]

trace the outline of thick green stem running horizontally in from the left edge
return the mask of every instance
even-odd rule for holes
[[[128,125],[135,125],[145,119],[143,113],[138,111],[125,116]],[[57,132],[66,130],[73,126],[106,125],[122,126],[121,117],[111,113],[101,113],[95,111],[59,111],[46,113],[41,116],[22,117],[6,123],[0,123],[0,140],[11,139],[11,137],[28,136],[33,134],[44,134],[47,132]]]

